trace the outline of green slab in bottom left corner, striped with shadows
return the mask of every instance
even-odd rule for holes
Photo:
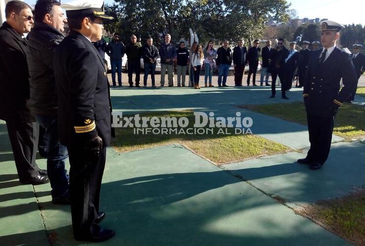
[[[14,161],[0,160],[0,245],[48,245],[33,186],[18,181]]]

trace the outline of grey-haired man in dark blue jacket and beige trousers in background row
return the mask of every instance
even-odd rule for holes
[[[174,86],[174,60],[176,60],[175,46],[170,43],[171,35],[165,35],[165,42],[161,44],[159,53],[161,58],[161,87],[165,86],[165,74],[169,80],[169,87]]]

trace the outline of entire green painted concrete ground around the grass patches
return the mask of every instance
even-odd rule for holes
[[[293,149],[309,146],[305,127],[236,108],[268,103],[269,90],[112,90],[123,112],[201,109],[251,114],[255,131]],[[301,92],[290,92],[290,101]],[[272,103],[282,102],[276,98]],[[248,115],[250,116],[250,115]],[[339,141],[340,138],[335,138]],[[335,197],[365,184],[364,144],[337,143],[316,172],[294,163],[293,152],[217,167],[180,145],[119,154],[108,149],[102,226],[116,236],[100,245],[347,245],[292,208]],[[305,152],[306,150],[304,150]],[[38,159],[45,168],[45,159]],[[69,165],[67,165],[69,166]],[[69,168],[69,167],[68,167]],[[247,181],[247,182],[245,182]],[[272,196],[280,196],[285,205]],[[0,123],[0,245],[83,245],[73,241],[69,206],[53,205],[49,184],[21,185]]]

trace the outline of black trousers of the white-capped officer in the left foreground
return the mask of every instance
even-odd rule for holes
[[[71,215],[74,237],[88,235],[99,214],[100,187],[106,160],[106,148],[99,156],[86,154],[82,147],[67,148],[70,158]]]

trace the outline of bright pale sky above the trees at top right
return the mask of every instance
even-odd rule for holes
[[[36,0],[25,0],[35,4]],[[66,0],[61,0],[66,1]],[[291,8],[297,11],[298,17],[310,19],[320,18],[338,22],[340,24],[365,25],[365,0],[287,0]],[[112,3],[113,0],[106,0]]]

